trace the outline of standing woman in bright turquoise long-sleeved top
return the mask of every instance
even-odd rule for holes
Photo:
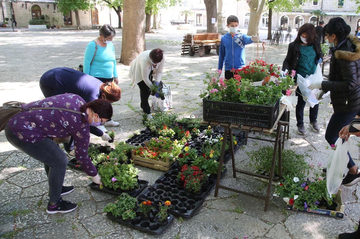
[[[99,35],[86,46],[84,73],[94,76],[104,83],[114,80],[118,84],[115,50],[112,43],[115,37],[115,29],[109,24],[104,24],[100,28]],[[91,62],[93,57],[94,60]]]

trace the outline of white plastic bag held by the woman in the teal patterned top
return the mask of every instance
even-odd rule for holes
[[[316,93],[318,93],[319,89],[309,90],[307,89],[307,87],[314,82],[321,82],[323,80],[324,77],[321,73],[320,63],[318,64],[318,66],[316,66],[315,73],[312,75],[306,75],[306,77],[303,78],[301,75],[297,74],[297,83],[299,84],[299,89],[301,91],[301,94],[303,95],[303,99],[306,104],[311,108],[313,108],[316,104],[319,104],[319,102],[321,101],[316,99]],[[330,92],[324,94],[323,98],[325,98],[325,96],[327,96],[328,94],[330,94]]]

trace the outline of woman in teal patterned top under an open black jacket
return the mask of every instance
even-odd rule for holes
[[[288,53],[283,63],[283,71],[295,70],[296,74],[306,77],[315,73],[316,66],[321,62],[322,52],[320,39],[316,36],[315,26],[311,23],[305,23],[299,29],[296,39],[289,44]],[[296,79],[296,76],[295,76]],[[302,93],[298,88],[296,105],[297,132],[299,135],[305,135],[304,127],[304,107],[306,102],[302,98]],[[313,108],[310,107],[309,127],[314,132],[319,132],[320,128],[316,119],[318,118],[319,104]]]

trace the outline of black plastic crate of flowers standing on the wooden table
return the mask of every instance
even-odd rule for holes
[[[280,99],[274,106],[258,106],[203,99],[204,120],[271,128],[278,118]]]

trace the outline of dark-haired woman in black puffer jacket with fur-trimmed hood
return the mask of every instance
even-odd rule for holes
[[[348,36],[351,29],[344,19],[330,19],[324,27],[325,39],[332,48],[329,80],[313,83],[309,89],[319,90],[316,98],[322,99],[330,91],[334,113],[330,118],[325,139],[330,145],[335,144],[342,127],[355,118],[360,109],[360,41],[355,36]],[[343,179],[344,186],[352,186],[360,180],[360,170],[356,167],[349,153],[349,172]],[[326,169],[323,169],[326,174]]]

